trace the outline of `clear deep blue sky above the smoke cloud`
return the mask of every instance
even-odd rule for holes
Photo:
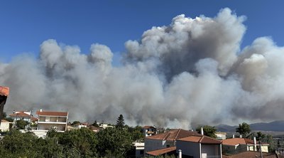
[[[284,45],[284,1],[15,1],[0,0],[0,62],[29,53],[38,57],[39,46],[53,38],[77,45],[89,53],[92,43],[109,46],[116,61],[124,43],[141,37],[152,26],[168,25],[173,17],[214,17],[229,7],[245,15],[242,47],[260,36]],[[116,65],[117,63],[114,63]]]

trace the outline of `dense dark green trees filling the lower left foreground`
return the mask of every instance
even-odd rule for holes
[[[0,139],[0,157],[126,157],[132,142],[143,139],[141,129],[124,124],[97,133],[86,127],[66,132],[51,128],[45,139],[11,129]]]

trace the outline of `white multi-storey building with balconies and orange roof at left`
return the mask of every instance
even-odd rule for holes
[[[67,130],[68,112],[53,112],[39,110],[38,115],[38,129],[48,131],[55,127],[58,132]]]

